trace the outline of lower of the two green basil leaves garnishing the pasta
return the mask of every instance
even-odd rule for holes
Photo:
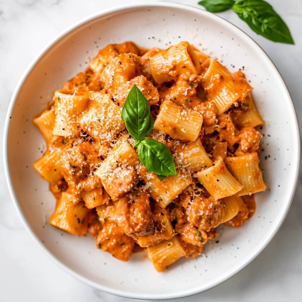
[[[138,158],[149,172],[157,175],[176,175],[173,156],[167,146],[153,138],[141,140]]]

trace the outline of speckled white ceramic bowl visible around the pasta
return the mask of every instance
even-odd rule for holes
[[[66,79],[87,66],[108,43],[132,40],[144,47],[168,47],[188,40],[239,68],[254,87],[265,125],[260,155],[268,189],[256,194],[255,216],[242,227],[219,227],[219,237],[196,259],[182,259],[158,273],[144,253],[120,262],[95,248],[91,236],[77,237],[48,225],[55,201],[32,163],[45,143],[31,123]],[[235,67],[233,67],[235,66]],[[205,291],[230,278],[269,243],[288,212],[297,184],[300,137],[291,97],[265,52],[243,31],[198,8],[171,3],[125,5],[95,14],[48,45],[25,72],[11,99],[4,136],[4,163],[11,197],[41,249],[79,280],[124,297],[168,299]],[[39,265],[37,263],[37,265]]]

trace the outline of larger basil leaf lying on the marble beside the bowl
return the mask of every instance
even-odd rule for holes
[[[233,11],[256,34],[275,42],[294,44],[288,27],[267,2],[263,0],[239,0],[233,5]]]

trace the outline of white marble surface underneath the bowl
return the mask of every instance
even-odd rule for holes
[[[0,1],[0,127],[13,90],[38,52],[62,30],[89,14],[135,0],[2,0]],[[141,0],[140,2],[143,2]],[[196,5],[197,0],[182,1]],[[293,97],[302,121],[302,1],[269,0],[291,29],[295,45],[273,43],[254,34],[232,11],[220,16],[246,31],[271,57]],[[197,6],[197,5],[196,5]],[[30,100],[29,100],[30,101]],[[281,104],[282,100],[276,100]],[[1,139],[2,144],[2,139]],[[2,157],[2,147],[0,149]],[[0,300],[1,301],[134,301],[106,294],[60,270],[25,230],[8,193],[0,161]],[[180,301],[301,301],[302,181],[281,230],[246,268],[202,294]],[[105,272],[103,272],[105,274]]]

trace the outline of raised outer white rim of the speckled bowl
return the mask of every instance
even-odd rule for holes
[[[256,252],[249,259],[247,259],[246,262],[244,262],[242,265],[240,265],[239,267],[237,267],[233,271],[230,271],[228,274],[222,275],[215,282],[212,282],[211,284],[209,284],[207,286],[200,286],[198,288],[187,289],[187,290],[183,290],[183,291],[179,291],[179,292],[173,292],[173,293],[169,293],[169,294],[141,294],[141,293],[133,293],[133,292],[128,292],[128,291],[124,291],[124,290],[117,290],[117,289],[109,288],[107,286],[103,286],[103,285],[101,285],[97,282],[94,282],[94,281],[80,275],[79,273],[74,271],[72,268],[69,268],[67,265],[65,265],[63,262],[61,262],[59,259],[57,259],[56,256],[53,255],[44,246],[44,244],[40,241],[40,239],[37,237],[37,235],[31,229],[29,223],[27,222],[27,219],[23,215],[21,207],[19,206],[17,197],[14,193],[14,189],[13,189],[13,186],[12,186],[12,181],[11,181],[11,178],[10,178],[9,166],[8,166],[8,152],[7,152],[8,151],[7,150],[8,144],[7,144],[7,141],[8,141],[8,130],[9,130],[9,122],[10,122],[11,112],[14,108],[14,104],[15,104],[16,98],[17,98],[17,96],[20,92],[20,89],[23,86],[25,80],[27,79],[27,76],[30,74],[30,72],[34,68],[34,66],[40,61],[40,59],[42,59],[42,57],[44,55],[47,54],[47,52],[56,43],[58,43],[61,39],[63,39],[71,31],[73,31],[76,28],[84,25],[85,23],[87,23],[89,21],[92,21],[96,18],[105,16],[107,14],[119,13],[119,12],[123,12],[123,11],[127,12],[127,10],[131,10],[131,9],[135,9],[135,8],[142,8],[142,7],[178,8],[178,9],[186,10],[188,12],[198,13],[201,16],[205,15],[208,18],[211,18],[212,20],[214,20],[216,23],[218,23],[220,25],[223,25],[223,26],[226,26],[227,28],[233,30],[235,34],[237,34],[238,36],[243,38],[250,46],[254,47],[255,50],[258,50],[258,52],[265,58],[267,63],[270,64],[273,69],[275,69],[276,76],[279,77],[281,82],[283,82],[283,88],[285,89],[285,93],[287,94],[287,98],[289,99],[289,105],[290,105],[291,111],[293,111],[293,113],[294,113],[294,118],[295,118],[295,120],[294,120],[294,125],[295,125],[294,137],[295,138],[294,139],[296,140],[297,149],[298,149],[297,150],[297,158],[296,158],[297,166],[296,166],[295,175],[294,175],[295,182],[294,182],[294,184],[291,188],[291,192],[289,194],[289,198],[288,198],[284,213],[282,214],[282,216],[281,216],[278,224],[276,225],[275,229],[271,232],[271,234],[268,236],[268,238],[265,240],[265,242],[261,246],[259,246],[259,248],[256,250]],[[201,293],[201,292],[206,291],[210,288],[213,288],[213,287],[223,283],[224,281],[228,280],[229,278],[233,277],[236,273],[241,271],[250,262],[252,262],[252,260],[254,260],[263,251],[263,249],[265,249],[265,247],[268,245],[268,243],[274,238],[274,236],[276,235],[276,233],[280,229],[282,223],[284,222],[285,217],[288,214],[289,208],[290,208],[292,200],[294,198],[294,193],[295,193],[295,190],[296,190],[296,187],[297,187],[297,182],[298,182],[298,175],[299,175],[299,170],[300,170],[300,152],[301,152],[300,130],[299,130],[299,124],[298,124],[298,119],[297,119],[297,113],[296,113],[295,108],[294,108],[294,103],[293,103],[291,95],[288,91],[288,88],[287,88],[287,86],[284,82],[284,79],[282,78],[280,72],[278,71],[277,67],[272,62],[272,60],[269,58],[267,53],[265,53],[265,51],[259,46],[259,44],[257,42],[255,42],[255,40],[253,40],[248,34],[246,34],[243,30],[241,30],[236,25],[232,24],[230,21],[227,21],[227,20],[223,19],[222,17],[220,17],[216,14],[210,13],[208,11],[205,11],[201,8],[197,8],[197,7],[194,7],[194,6],[191,6],[191,5],[185,5],[185,4],[179,4],[179,3],[170,3],[170,2],[131,3],[131,4],[126,4],[126,5],[114,6],[113,8],[108,8],[108,9],[105,9],[105,10],[101,10],[101,11],[98,11],[97,13],[95,13],[95,14],[91,14],[88,17],[83,18],[82,20],[76,22],[72,26],[70,26],[67,29],[65,29],[64,31],[62,31],[59,35],[57,35],[50,43],[48,43],[48,45],[46,47],[43,48],[43,50],[40,51],[40,53],[30,63],[30,65],[27,67],[27,69],[25,70],[25,72],[21,76],[20,80],[18,81],[18,84],[16,85],[16,88],[14,89],[14,93],[11,97],[10,104],[9,104],[9,107],[8,107],[8,112],[7,112],[7,115],[6,115],[5,126],[4,126],[4,136],[3,136],[4,171],[5,171],[5,178],[6,178],[6,182],[7,182],[7,185],[8,185],[8,189],[9,189],[9,192],[10,192],[11,199],[14,203],[14,206],[16,207],[16,209],[18,211],[18,214],[19,214],[26,230],[30,233],[32,238],[36,241],[36,243],[43,250],[43,252],[54,263],[56,263],[56,265],[58,265],[61,269],[63,269],[64,271],[69,273],[69,275],[72,275],[73,277],[75,277],[76,279],[82,281],[85,284],[88,284],[88,285],[90,285],[94,288],[97,288],[98,290],[105,291],[109,294],[114,294],[114,295],[117,295],[117,296],[127,297],[127,298],[147,299],[147,300],[174,299],[174,298],[187,297],[187,296],[191,296],[191,295],[194,295],[194,294]]]

